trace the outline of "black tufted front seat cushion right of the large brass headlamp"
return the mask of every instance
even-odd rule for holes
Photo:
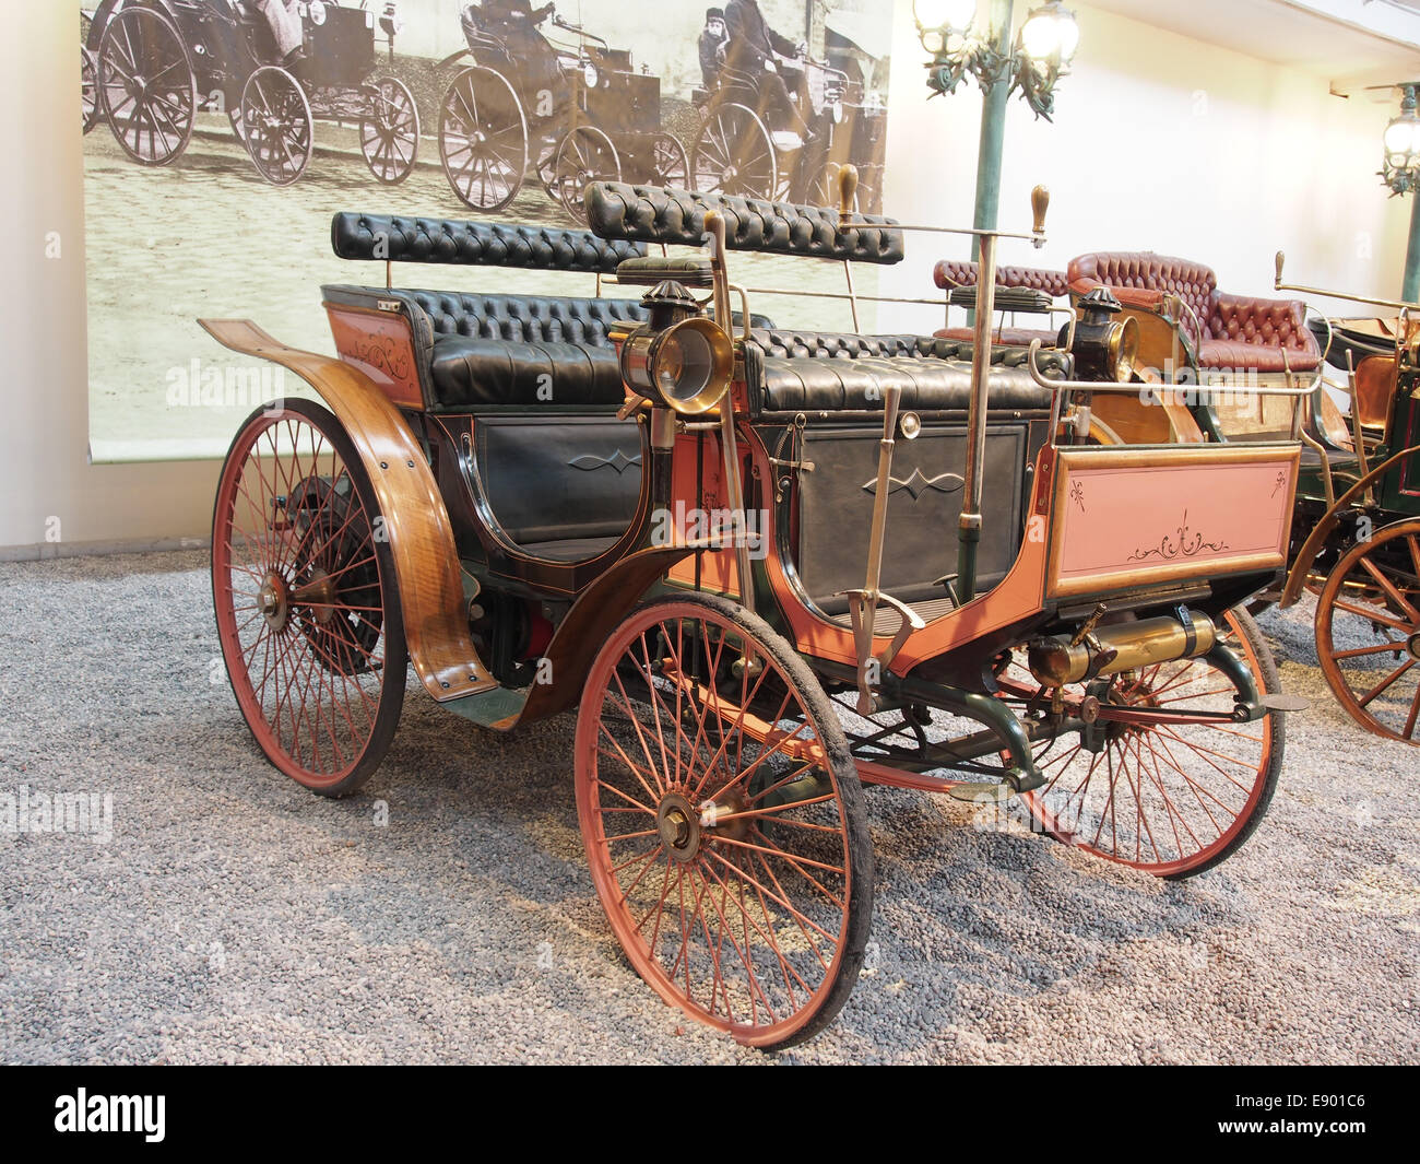
[[[902,388],[902,406],[964,412],[971,401],[971,344],[929,335],[855,335],[832,331],[754,328],[746,352],[751,391],[768,412],[880,409],[883,389]],[[1025,370],[1027,350],[993,347],[988,405],[1030,411],[1051,406],[1051,394]],[[1041,367],[1064,374],[1056,352]]]

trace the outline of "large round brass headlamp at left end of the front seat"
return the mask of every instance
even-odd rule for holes
[[[734,377],[734,343],[700,314],[700,304],[667,279],[642,298],[650,320],[621,347],[626,385],[686,415],[713,409]]]

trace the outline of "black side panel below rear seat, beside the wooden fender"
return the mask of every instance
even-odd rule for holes
[[[480,416],[477,465],[518,544],[615,537],[640,496],[640,432],[601,416]]]

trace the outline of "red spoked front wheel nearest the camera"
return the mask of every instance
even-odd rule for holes
[[[618,627],[578,712],[577,810],[612,931],[666,1002],[760,1047],[838,1013],[872,914],[863,793],[763,620],[686,594]]]

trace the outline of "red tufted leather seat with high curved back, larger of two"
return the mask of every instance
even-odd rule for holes
[[[1321,364],[1301,300],[1230,296],[1203,263],[1153,252],[1098,252],[1071,259],[1068,277],[1072,293],[1109,287],[1125,307],[1157,311],[1164,296],[1180,298],[1190,310],[1179,325],[1197,348],[1200,368],[1301,372]]]

